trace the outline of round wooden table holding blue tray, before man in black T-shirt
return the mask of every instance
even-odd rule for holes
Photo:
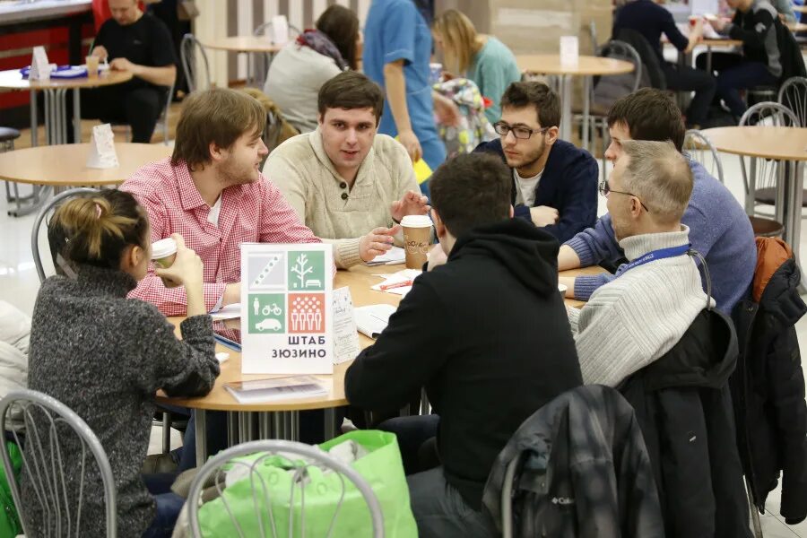
[[[0,71],[0,90],[30,91],[30,145],[37,143],[37,91],[45,93],[45,138],[48,144],[67,142],[66,93],[73,90],[73,129],[75,142],[82,139],[82,111],[79,91],[82,88],[100,88],[132,80],[128,71],[101,71],[97,77],[72,79],[52,78],[47,81],[29,81],[22,78],[19,69]]]

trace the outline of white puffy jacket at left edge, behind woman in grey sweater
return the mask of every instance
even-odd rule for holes
[[[30,316],[0,300],[0,398],[13,390],[28,388]],[[12,417],[18,424],[19,414]]]

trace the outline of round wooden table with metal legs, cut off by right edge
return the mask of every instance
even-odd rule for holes
[[[796,261],[799,259],[799,242],[802,231],[803,171],[807,161],[807,129],[775,126],[736,126],[705,129],[703,134],[717,151],[758,157],[774,161],[793,161],[792,174],[785,177],[785,204],[783,224],[784,239],[793,248]],[[746,186],[745,210],[753,214],[753,178]]]

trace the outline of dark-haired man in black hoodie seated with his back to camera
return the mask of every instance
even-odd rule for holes
[[[558,243],[511,219],[511,175],[492,155],[460,155],[431,178],[439,245],[376,343],[344,377],[361,409],[397,409],[426,387],[437,413],[386,421],[402,447],[421,537],[491,535],[481,511],[493,460],[535,410],[580,385],[558,292]],[[441,465],[417,453],[437,436]],[[421,472],[422,471],[422,472]]]

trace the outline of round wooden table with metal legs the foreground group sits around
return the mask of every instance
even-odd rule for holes
[[[395,273],[404,268],[404,265],[380,265],[368,267],[365,265],[356,265],[349,270],[340,270],[336,272],[334,279],[334,289],[348,286],[351,290],[351,298],[353,305],[356,307],[375,305],[375,304],[390,304],[397,306],[401,301],[400,295],[393,293],[385,293],[383,291],[371,290],[370,287],[380,282],[380,278],[374,276],[375,274]],[[586,269],[576,269],[572,271],[564,271],[560,273],[562,276],[577,276],[580,274],[597,274],[603,273],[604,269],[601,267],[587,267]],[[566,299],[566,303],[571,306],[580,307],[585,304],[583,301],[574,299]],[[184,317],[169,317],[169,321],[179,326],[179,323]],[[177,332],[178,336],[180,335]],[[373,340],[363,334],[359,334],[361,349],[364,349],[373,343]],[[283,377],[283,376],[267,376],[265,374],[242,374],[241,373],[241,354],[239,351],[233,351],[221,345],[216,344],[216,351],[225,351],[230,353],[230,359],[221,364],[221,374],[216,378],[213,390],[205,396],[198,398],[170,398],[164,393],[157,394],[157,401],[161,404],[176,405],[178,407],[187,407],[195,410],[196,416],[196,464],[204,464],[207,457],[207,439],[206,439],[206,417],[207,411],[224,411],[229,412],[228,421],[230,423],[239,423],[239,441],[243,442],[249,438],[291,438],[294,439],[294,432],[297,430],[291,424],[296,423],[298,420],[298,412],[311,410],[311,409],[324,409],[325,410],[325,434],[326,438],[334,436],[334,408],[347,405],[348,401],[344,395],[344,373],[350,367],[352,360],[343,362],[342,364],[334,365],[334,373],[332,375],[317,375],[320,383],[325,386],[327,394],[313,397],[313,398],[295,398],[286,401],[277,400],[270,403],[256,403],[256,404],[239,404],[239,402],[230,395],[224,388],[225,383],[232,383],[235,381],[246,381],[249,379],[261,379],[266,377]],[[258,429],[254,431],[253,422],[249,418],[250,413],[257,413],[258,415]],[[230,444],[234,444],[236,439],[231,437]]]

